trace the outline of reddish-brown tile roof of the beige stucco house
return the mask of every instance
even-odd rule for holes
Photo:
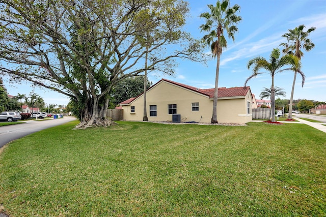
[[[172,83],[172,84],[175,84],[175,85],[184,87],[186,89],[193,90],[193,91],[198,92],[200,94],[206,95],[209,98],[213,98],[214,97],[214,88],[200,89],[200,88],[197,88],[197,87],[194,87],[194,86],[189,86],[189,85],[186,85],[186,84],[178,83],[178,82],[175,82],[175,81],[170,81],[170,80],[167,80],[167,79],[161,79],[161,80],[159,80],[157,83],[155,83],[154,85],[152,85],[147,90],[153,88],[154,86],[156,86],[158,83],[160,83],[162,81],[166,81],[168,83]],[[249,90],[250,90],[250,87],[249,86],[246,86],[246,87],[231,87],[231,88],[219,87],[219,90],[218,90],[218,98],[224,98],[224,97],[244,97],[244,96],[247,95],[247,92]],[[137,97],[130,98],[130,99],[126,100],[126,101],[123,101],[123,102],[120,103],[120,105],[121,104],[129,104],[134,99],[140,97],[141,95],[139,95]]]

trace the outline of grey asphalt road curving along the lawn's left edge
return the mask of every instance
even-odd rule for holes
[[[49,120],[29,120],[19,125],[9,125],[0,127],[0,148],[5,144],[30,135],[32,133],[62,125],[63,123],[75,120],[73,116],[65,116],[64,118],[49,119]]]

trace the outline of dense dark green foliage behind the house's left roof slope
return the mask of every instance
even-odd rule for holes
[[[148,89],[152,85],[147,81],[146,88]],[[114,104],[128,100],[132,97],[137,97],[142,94],[144,90],[144,76],[131,77],[122,80],[114,87]]]

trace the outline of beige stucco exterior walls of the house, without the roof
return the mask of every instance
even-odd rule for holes
[[[250,95],[248,95],[250,97]],[[210,122],[212,117],[213,100],[208,96],[198,94],[195,91],[180,86],[161,82],[147,91],[147,117],[149,121],[172,121],[168,105],[177,105],[177,114],[181,121]],[[247,98],[247,97],[246,97]],[[218,121],[220,123],[246,123],[251,121],[251,115],[247,115],[247,99],[219,99]],[[251,98],[249,99],[251,102]],[[199,103],[199,111],[192,111],[192,103]],[[143,96],[135,99],[130,105],[122,105],[125,120],[142,121]],[[150,116],[150,105],[156,105],[157,116]],[[134,106],[134,112],[131,112]]]

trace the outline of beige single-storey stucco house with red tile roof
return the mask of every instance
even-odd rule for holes
[[[161,79],[146,91],[149,121],[207,122],[212,117],[214,89]],[[252,92],[250,87],[219,88],[218,121],[247,123],[252,120]],[[142,121],[143,94],[120,103],[124,120]]]

